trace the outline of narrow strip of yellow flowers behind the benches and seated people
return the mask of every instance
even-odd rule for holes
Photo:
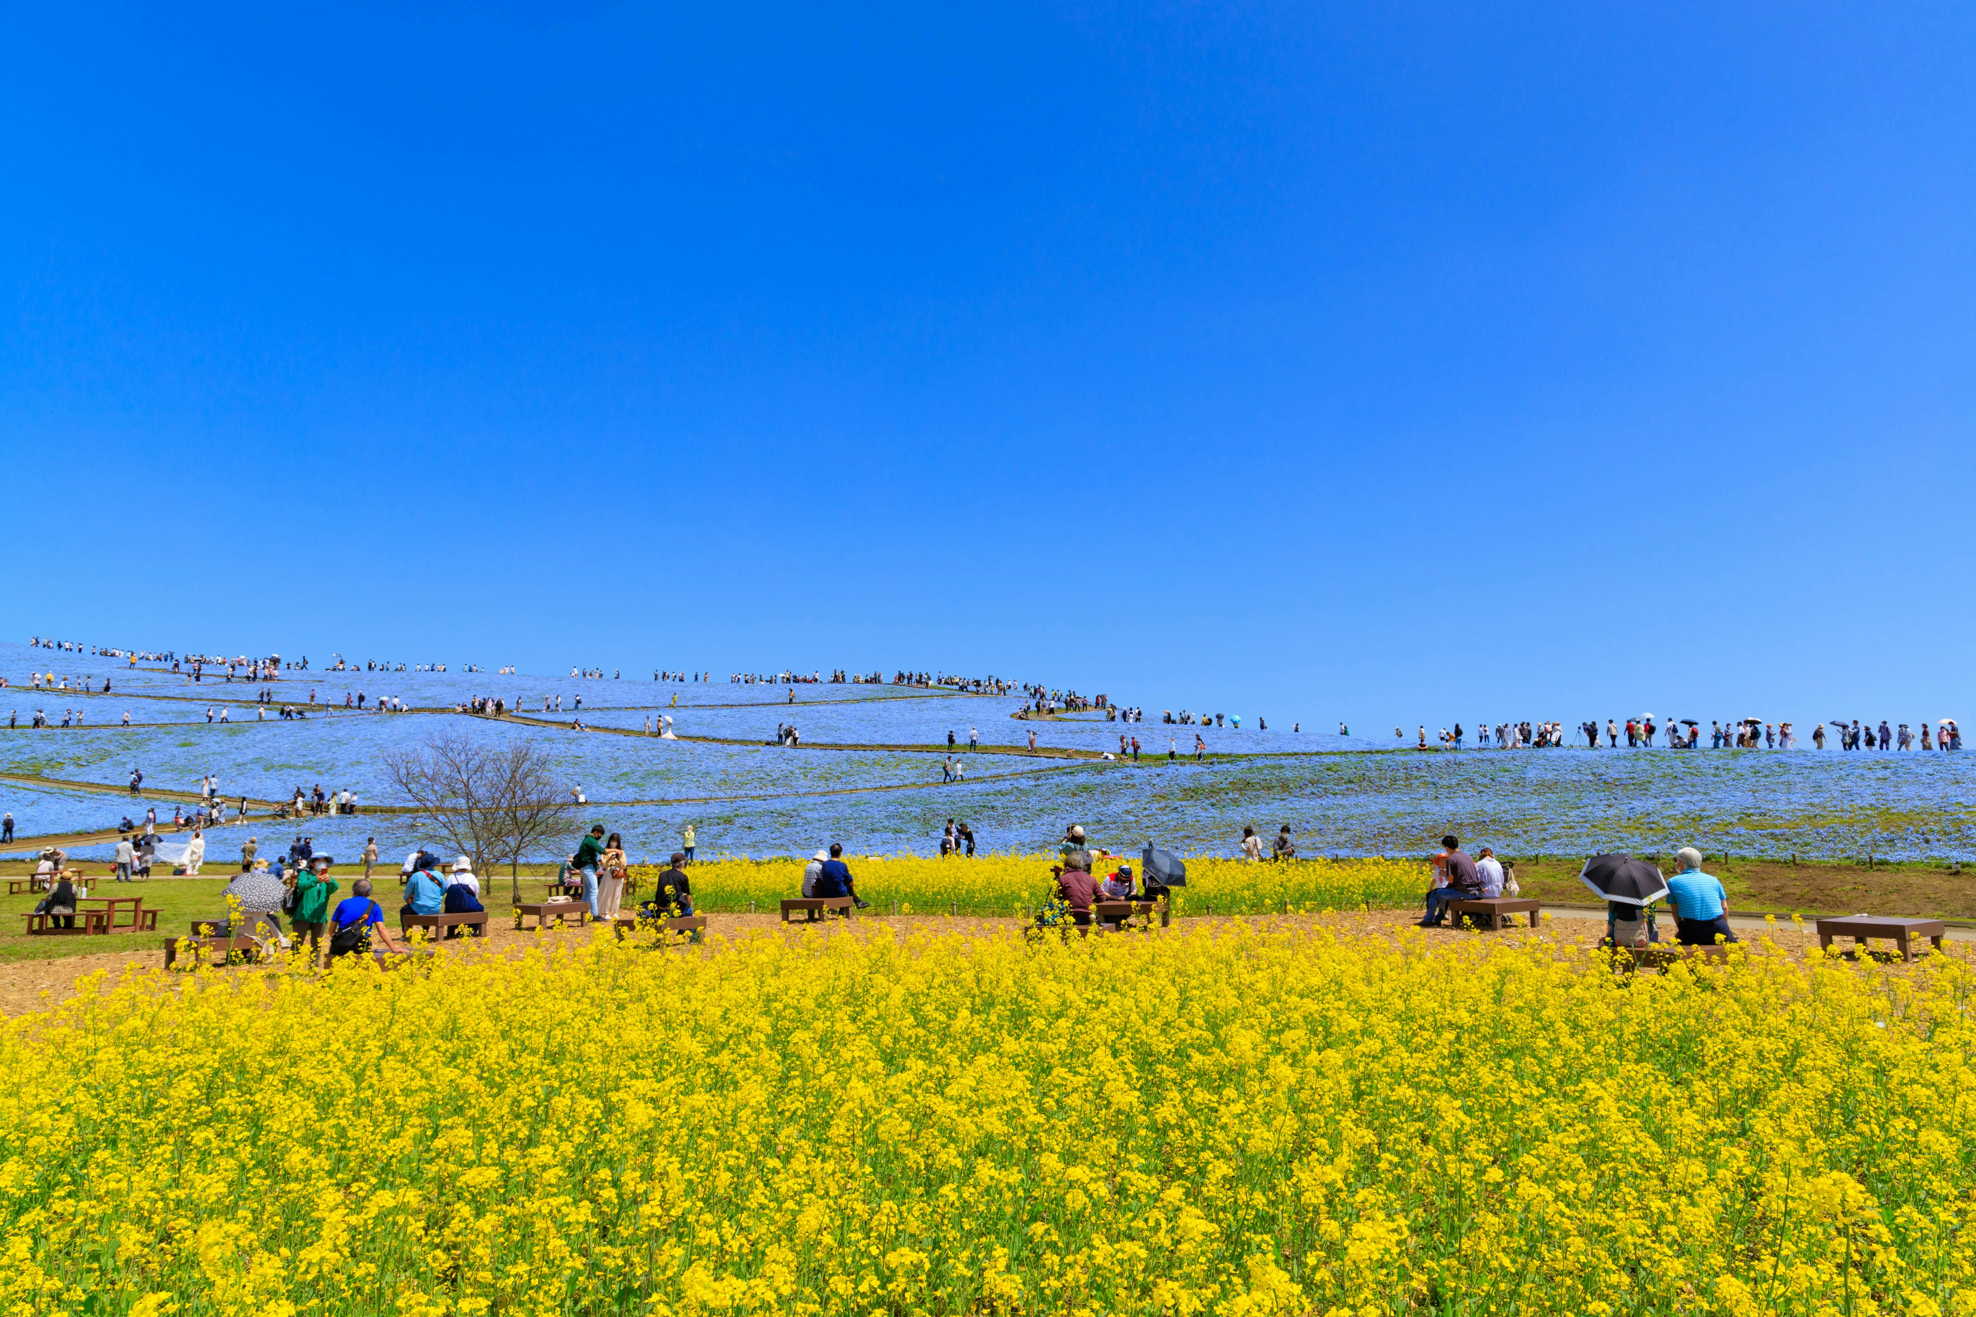
[[[802,894],[808,859],[719,857],[690,867],[700,910],[777,910],[782,896]],[[850,855],[858,894],[883,912],[899,914],[1029,914],[1049,900],[1057,855]],[[1138,875],[1138,855],[1099,857],[1099,877],[1120,863]],[[638,871],[638,891],[656,891],[658,869]],[[1138,875],[1140,879],[1144,875]],[[1176,914],[1298,914],[1320,910],[1379,910],[1419,904],[1427,865],[1403,859],[1298,859],[1249,863],[1190,859],[1188,885],[1174,889]]]

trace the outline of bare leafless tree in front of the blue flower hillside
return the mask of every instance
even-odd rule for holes
[[[419,748],[389,750],[385,776],[474,873],[508,861],[514,898],[522,898],[522,857],[575,819],[569,792],[555,780],[547,752],[532,740],[506,744],[464,733],[435,733]]]

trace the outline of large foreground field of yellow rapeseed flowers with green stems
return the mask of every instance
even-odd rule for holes
[[[136,977],[0,1037],[0,1297],[1958,1313],[1970,989],[1290,924]]]

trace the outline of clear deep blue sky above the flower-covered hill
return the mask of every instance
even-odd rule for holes
[[[10,640],[1976,717],[1968,6],[277,8],[10,12]]]

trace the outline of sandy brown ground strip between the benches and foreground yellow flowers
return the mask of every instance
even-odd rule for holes
[[[1452,928],[1413,928],[1413,916],[1399,910],[1379,910],[1379,912],[1348,912],[1348,914],[1316,914],[1316,916],[1290,916],[1290,918],[1188,918],[1176,920],[1174,928],[1166,934],[1154,930],[1154,936],[1172,936],[1207,932],[1215,926],[1231,926],[1237,922],[1247,924],[1290,924],[1304,926],[1312,930],[1332,930],[1340,936],[1375,936],[1391,938],[1399,942],[1403,938],[1419,936],[1433,944],[1454,944],[1458,940],[1472,938],[1494,938],[1508,944],[1525,944],[1531,940],[1541,940],[1545,944],[1571,944],[1571,946],[1595,946],[1605,936],[1605,920],[1597,916],[1587,916],[1581,912],[1545,912],[1543,924],[1537,930],[1529,928],[1510,928],[1502,932],[1472,932],[1472,930],[1452,930]],[[1010,936],[1024,926],[1016,918],[950,918],[950,916],[879,916],[879,918],[860,918],[852,922],[834,922],[826,926],[802,926],[802,924],[781,924],[775,914],[709,914],[707,916],[707,936],[711,940],[719,938],[739,938],[745,934],[777,934],[788,938],[800,936],[893,936],[903,938],[915,932],[933,934],[966,934],[966,936]],[[1794,926],[1788,920],[1778,922],[1774,928],[1765,928],[1763,924],[1751,922],[1747,928],[1739,928],[1747,942],[1755,942],[1761,936],[1770,936],[1780,952],[1802,954],[1804,950],[1816,950],[1818,938],[1810,924]],[[520,952],[532,946],[553,946],[569,940],[589,938],[593,930],[583,928],[563,928],[547,932],[518,932],[514,920],[494,918],[490,922],[488,946],[496,952]],[[1138,934],[1132,934],[1138,936]],[[0,966],[0,1013],[8,1017],[26,1015],[30,1011],[43,1011],[59,1001],[75,995],[77,985],[93,973],[109,971],[111,975],[123,971],[124,968],[158,968],[164,964],[162,938],[158,950],[130,954],[113,952],[99,956],[65,956],[61,960],[38,960],[38,962],[18,962]],[[453,954],[462,942],[441,944],[439,954]],[[1877,944],[1891,946],[1891,944]],[[1946,950],[1950,956],[1976,960],[1976,944],[1968,940],[1948,942]],[[255,973],[257,969],[249,966],[202,969],[202,973]]]

